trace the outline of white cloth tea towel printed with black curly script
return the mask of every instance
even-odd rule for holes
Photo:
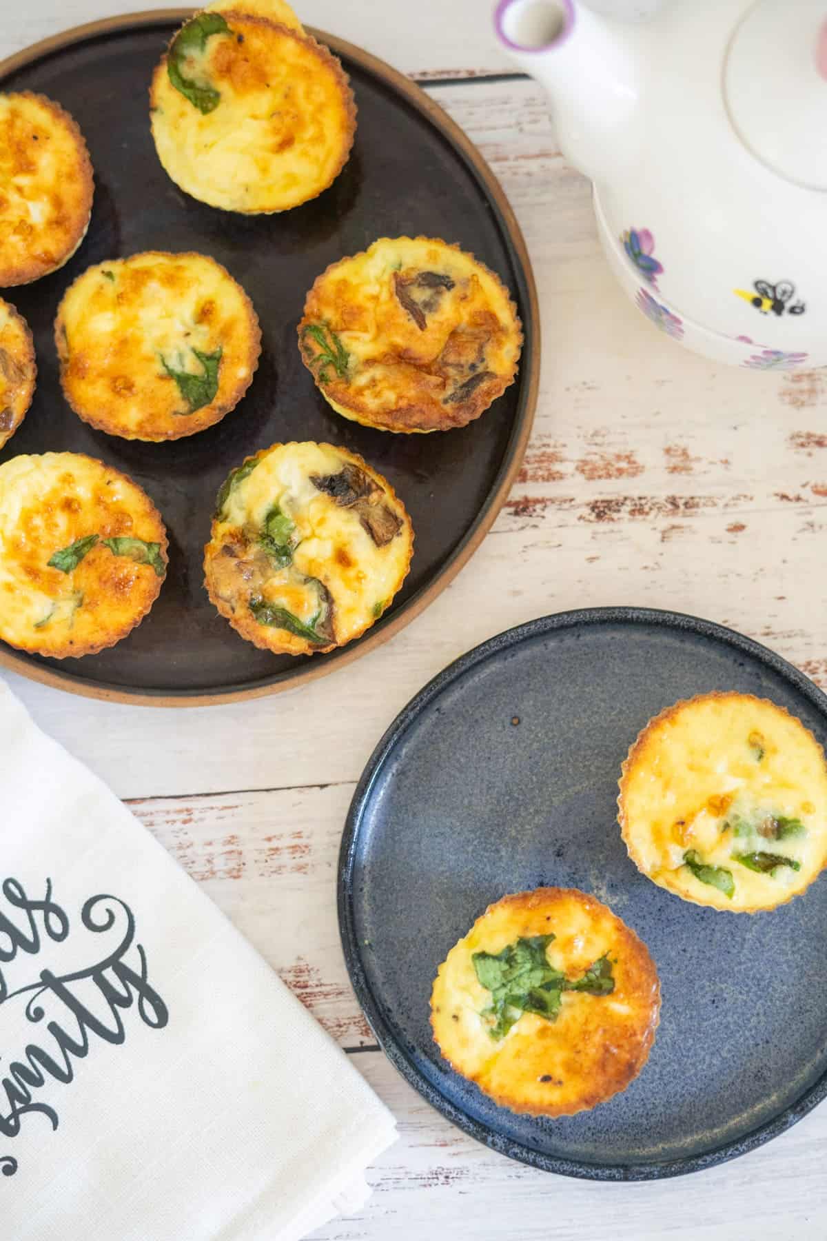
[[[0,778],[4,1241],[294,1241],[356,1209],[391,1113],[2,683]]]

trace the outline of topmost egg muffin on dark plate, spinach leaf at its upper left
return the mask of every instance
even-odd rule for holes
[[[175,36],[150,91],[166,172],[212,207],[288,211],[326,190],[351,151],[356,107],[335,56],[305,35],[234,9]]]

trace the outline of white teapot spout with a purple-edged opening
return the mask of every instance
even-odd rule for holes
[[[627,165],[641,74],[634,27],[575,0],[500,0],[493,24],[508,55],[548,91],[567,160],[593,181]]]

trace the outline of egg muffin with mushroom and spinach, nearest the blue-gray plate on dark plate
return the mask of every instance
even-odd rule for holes
[[[361,457],[331,444],[273,444],[218,493],[205,586],[242,638],[312,655],[369,629],[412,552],[404,505]]]

